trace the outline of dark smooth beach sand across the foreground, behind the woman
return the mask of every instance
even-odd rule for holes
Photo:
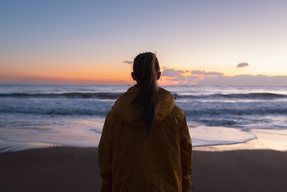
[[[97,148],[0,153],[0,170],[0,191],[100,191]],[[286,180],[286,151],[193,151],[193,191],[286,191]]]

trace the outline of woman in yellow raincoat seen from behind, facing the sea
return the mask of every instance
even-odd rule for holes
[[[133,62],[137,82],[106,116],[99,143],[101,191],[190,191],[192,147],[185,113],[158,87],[156,55]]]

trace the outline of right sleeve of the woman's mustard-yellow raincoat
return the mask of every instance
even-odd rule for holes
[[[191,188],[190,177],[192,171],[192,146],[185,115],[179,129],[179,136],[183,184],[182,191],[187,192],[190,191]]]

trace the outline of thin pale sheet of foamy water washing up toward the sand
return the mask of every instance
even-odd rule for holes
[[[103,122],[97,122],[101,125]],[[95,131],[96,130],[96,131]],[[256,138],[255,135],[235,128],[226,127],[197,127],[190,128],[193,147],[204,145],[225,145]],[[36,142],[77,147],[97,147],[101,137],[101,128],[89,129],[88,127],[22,127],[2,128],[0,138],[10,145],[13,142]],[[8,145],[8,144],[6,144]],[[27,146],[31,147],[31,146]],[[22,148],[23,149],[23,146]]]

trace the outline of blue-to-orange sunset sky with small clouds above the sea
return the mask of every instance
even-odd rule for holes
[[[0,0],[0,83],[287,86],[287,1]]]

